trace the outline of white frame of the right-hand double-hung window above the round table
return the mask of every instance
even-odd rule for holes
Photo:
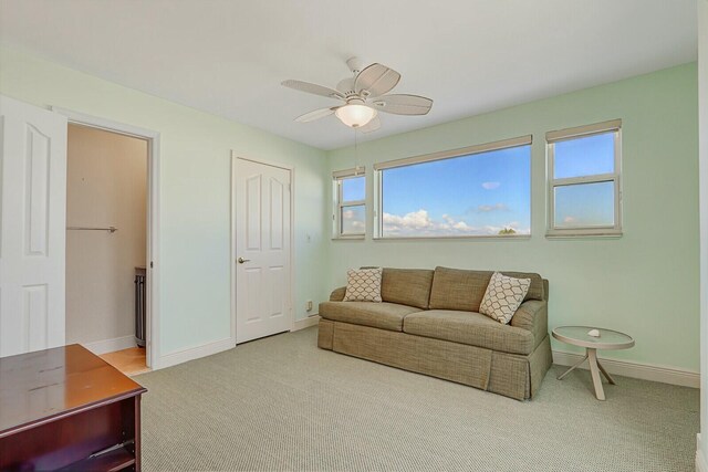
[[[613,133],[614,172],[591,176],[555,178],[555,144]],[[548,221],[546,238],[577,237],[622,237],[622,119],[595,123],[593,125],[565,128],[545,134],[546,182],[548,182]],[[614,187],[614,223],[612,225],[555,225],[555,189],[583,183],[613,182]]]

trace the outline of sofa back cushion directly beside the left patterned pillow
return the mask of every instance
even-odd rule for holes
[[[426,269],[384,268],[381,296],[384,302],[426,310],[434,272]]]

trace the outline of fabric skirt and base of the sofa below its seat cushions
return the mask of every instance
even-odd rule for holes
[[[552,364],[548,335],[523,356],[321,318],[317,346],[517,400],[535,395]]]

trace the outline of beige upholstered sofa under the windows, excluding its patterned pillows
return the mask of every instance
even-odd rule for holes
[[[492,272],[384,269],[383,303],[342,302],[346,289],[340,287],[320,304],[317,346],[518,400],[532,398],[552,361],[548,281],[502,273],[531,279],[509,325],[478,313]]]

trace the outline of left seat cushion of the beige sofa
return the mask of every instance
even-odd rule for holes
[[[323,302],[320,316],[333,322],[372,326],[388,331],[403,331],[403,319],[420,308],[396,303],[375,302]]]

